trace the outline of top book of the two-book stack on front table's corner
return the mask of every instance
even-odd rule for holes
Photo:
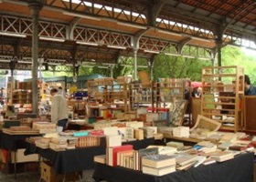
[[[167,167],[170,165],[176,165],[176,158],[166,155],[152,155],[142,157],[142,166],[146,167]]]

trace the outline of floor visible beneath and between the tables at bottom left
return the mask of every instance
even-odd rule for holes
[[[83,171],[82,182],[94,182],[92,179],[93,170]],[[0,172],[0,181],[1,182],[39,182],[40,173],[39,172],[26,172],[18,173],[16,175],[8,175]],[[41,180],[43,182],[44,180]]]

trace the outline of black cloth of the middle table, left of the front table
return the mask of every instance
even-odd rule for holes
[[[154,138],[146,138],[144,140],[127,142],[125,144],[132,144],[134,148],[139,149],[153,145],[154,142]],[[27,143],[27,148],[25,151],[26,155],[39,154],[41,157],[48,159],[53,163],[53,168],[57,174],[78,172],[94,168],[93,157],[103,155],[105,153],[105,145],[55,151],[50,148],[42,149],[31,143]]]

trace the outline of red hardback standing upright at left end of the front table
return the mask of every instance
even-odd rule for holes
[[[107,165],[116,167],[117,166],[117,153],[120,151],[132,150],[133,145],[123,145],[118,147],[107,147],[106,157]]]

